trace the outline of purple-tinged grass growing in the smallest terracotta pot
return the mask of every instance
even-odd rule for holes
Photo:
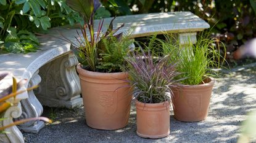
[[[150,52],[146,54],[141,50],[141,53],[131,52],[126,58],[134,98],[145,103],[171,101],[171,89],[178,84],[178,80],[175,80],[179,74],[176,63],[171,64],[168,55],[154,58]]]

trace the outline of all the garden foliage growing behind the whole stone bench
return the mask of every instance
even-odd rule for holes
[[[248,39],[255,37],[255,0],[101,0],[95,18],[189,10],[213,27],[213,35],[225,43],[227,60]],[[60,25],[74,25],[81,18],[65,0],[0,0],[0,49],[31,52],[38,41],[32,33]],[[16,29],[16,30],[15,30]],[[19,31],[23,30],[19,33]],[[4,46],[6,48],[4,48]],[[20,48],[22,47],[22,48]],[[3,50],[4,49],[4,50]],[[1,51],[0,51],[1,52]]]

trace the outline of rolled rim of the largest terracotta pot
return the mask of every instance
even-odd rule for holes
[[[128,72],[94,72],[94,71],[88,71],[86,69],[83,69],[81,67],[81,64],[76,65],[76,71],[78,74],[81,74],[85,77],[91,77],[94,79],[127,79],[128,78]]]

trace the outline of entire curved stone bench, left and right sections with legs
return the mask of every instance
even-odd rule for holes
[[[103,31],[107,29],[110,20],[112,18],[105,18]],[[97,23],[99,20],[95,21],[95,25]],[[133,29],[131,37],[151,36],[163,32],[176,33],[181,44],[186,44],[188,39],[196,42],[197,31],[210,27],[204,20],[191,12],[117,17],[114,20],[114,27],[122,25],[122,23],[125,23],[125,26],[120,29],[119,33],[128,33],[131,28]],[[78,61],[70,50],[71,44],[61,40],[62,37],[58,34],[62,33],[70,41],[75,42],[76,30],[80,31],[76,26],[52,28],[49,34],[39,37],[41,46],[36,53],[0,55],[0,71],[11,72],[17,80],[28,79],[30,82],[26,87],[39,84],[38,89],[20,95],[23,97],[21,106],[16,107],[19,112],[22,109],[20,118],[39,117],[43,113],[41,104],[68,108],[83,104],[80,97],[80,83],[75,71]],[[10,80],[3,82],[6,83],[6,86],[12,83]],[[19,115],[6,115],[6,117],[12,120]],[[28,122],[20,125],[19,129],[38,133],[43,125],[43,122]],[[9,142],[24,142],[22,134],[16,128],[14,126],[10,129],[12,135],[6,136],[6,139],[9,139]]]

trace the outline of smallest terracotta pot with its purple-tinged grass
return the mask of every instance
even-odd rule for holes
[[[178,82],[176,64],[170,64],[169,56],[153,58],[150,50],[141,54],[131,52],[128,74],[136,99],[137,134],[140,137],[160,138],[170,134],[171,88]]]

